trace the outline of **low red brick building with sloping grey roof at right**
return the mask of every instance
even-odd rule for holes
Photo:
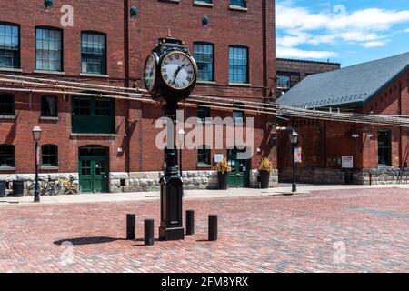
[[[338,108],[373,115],[409,115],[409,53],[310,75],[278,99],[298,108]],[[399,126],[294,118],[302,147],[297,179],[344,183],[343,156],[353,156],[354,183],[407,183],[409,129]],[[288,132],[278,134],[280,180],[291,180]]]

